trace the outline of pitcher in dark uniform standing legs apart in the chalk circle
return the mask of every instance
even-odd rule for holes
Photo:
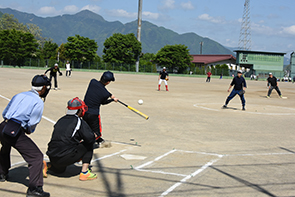
[[[247,88],[247,85],[246,85],[246,80],[244,79],[244,77],[242,77],[241,70],[238,71],[238,76],[233,78],[233,80],[227,90],[228,92],[230,91],[232,86],[234,86],[234,88],[233,88],[232,92],[230,93],[230,95],[227,97],[223,108],[227,108],[229,101],[232,100],[238,94],[241,98],[241,101],[242,101],[242,107],[243,107],[242,110],[245,110],[246,101],[245,101],[245,97],[244,97],[244,91]]]

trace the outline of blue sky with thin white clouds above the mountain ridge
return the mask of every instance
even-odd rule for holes
[[[244,2],[245,0],[143,0],[142,18],[177,33],[194,32],[224,46],[236,47]],[[0,7],[41,17],[74,14],[88,9],[107,21],[127,23],[137,19],[138,0],[1,0]],[[294,0],[252,0],[252,50],[287,53],[295,50],[294,8]]]

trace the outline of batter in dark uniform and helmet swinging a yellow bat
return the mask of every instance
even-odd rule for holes
[[[92,79],[84,97],[84,102],[88,106],[88,111],[85,113],[83,119],[94,132],[98,145],[104,142],[104,139],[101,137],[100,106],[109,104],[112,101],[118,102],[118,98],[112,95],[105,87],[110,84],[111,81],[115,81],[115,77],[110,71],[104,72],[100,81]]]

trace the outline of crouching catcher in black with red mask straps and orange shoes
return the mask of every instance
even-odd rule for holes
[[[54,130],[46,154],[49,156],[48,170],[62,173],[67,166],[82,159],[79,180],[96,179],[96,174],[89,170],[93,156],[95,136],[88,124],[82,120],[87,106],[78,97],[68,101],[68,111],[54,125]],[[45,170],[44,177],[47,177]]]

